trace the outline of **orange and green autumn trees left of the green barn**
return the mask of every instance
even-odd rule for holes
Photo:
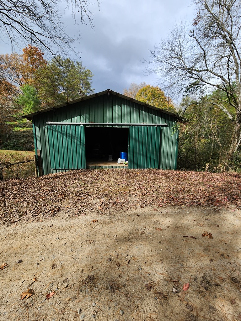
[[[47,61],[31,45],[0,55],[0,148],[30,150],[31,123],[21,116],[93,93],[92,77],[81,62]]]

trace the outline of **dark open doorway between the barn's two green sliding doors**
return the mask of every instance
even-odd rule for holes
[[[128,142],[129,128],[85,127],[86,165],[117,164],[120,153],[128,152]]]

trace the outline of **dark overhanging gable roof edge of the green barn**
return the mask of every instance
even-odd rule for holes
[[[89,95],[89,96],[85,96],[85,97],[78,98],[78,99],[75,99],[75,100],[71,100],[71,101],[68,101],[68,102],[65,102],[63,104],[60,104],[60,105],[57,105],[57,106],[53,106],[53,107],[50,107],[50,108],[47,108],[47,109],[42,109],[42,110],[39,110],[39,111],[37,111],[35,113],[24,115],[24,116],[22,116],[22,118],[27,118],[28,120],[32,120],[33,117],[36,116],[36,115],[40,115],[42,113],[46,113],[46,112],[51,111],[51,110],[56,110],[56,109],[61,108],[61,107],[66,107],[66,106],[75,104],[77,102],[88,100],[88,99],[91,99],[91,98],[94,98],[94,97],[98,97],[98,96],[102,96],[102,95],[105,95],[105,94],[115,95],[117,97],[121,97],[121,98],[124,98],[124,99],[129,100],[129,101],[133,101],[133,102],[135,102],[135,103],[137,103],[139,105],[143,105],[143,106],[146,106],[148,108],[158,110],[160,112],[163,112],[165,114],[171,115],[173,117],[181,118],[180,116],[178,116],[178,115],[176,115],[174,113],[171,113],[170,111],[167,111],[167,110],[164,110],[164,109],[160,109],[160,108],[156,108],[156,107],[148,105],[148,104],[146,104],[146,103],[144,103],[142,101],[139,101],[139,100],[133,99],[131,97],[122,95],[119,92],[112,91],[111,89],[106,89],[105,91],[97,92],[97,93],[95,93],[93,95]]]

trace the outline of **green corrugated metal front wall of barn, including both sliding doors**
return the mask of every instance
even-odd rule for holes
[[[173,134],[176,118],[106,94],[33,118],[35,149],[41,150],[44,174],[86,168],[84,126],[53,126],[47,122],[122,123],[90,126],[129,127],[129,168],[176,169],[178,135],[177,132]],[[128,126],[125,123],[167,123],[167,126]]]

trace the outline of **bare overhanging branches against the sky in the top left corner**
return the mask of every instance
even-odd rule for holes
[[[89,0],[67,0],[65,5],[72,7],[75,23],[93,27]],[[60,6],[58,0],[0,0],[0,39],[17,47],[34,44],[52,54],[59,48],[67,51],[79,35],[74,39],[65,32]]]

